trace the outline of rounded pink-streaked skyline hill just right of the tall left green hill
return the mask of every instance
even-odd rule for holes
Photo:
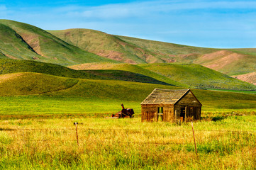
[[[108,57],[121,62],[137,64],[147,62],[164,62],[157,53],[150,52],[136,45],[97,30],[69,29],[48,30],[52,35],[69,42],[83,50],[96,55]]]

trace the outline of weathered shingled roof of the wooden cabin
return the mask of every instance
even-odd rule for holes
[[[185,96],[190,90],[171,90],[171,89],[155,89],[140,104],[175,104],[180,98]]]

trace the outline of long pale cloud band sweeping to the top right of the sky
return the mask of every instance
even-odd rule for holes
[[[69,17],[111,19],[158,16],[175,12],[186,13],[187,10],[196,9],[205,9],[208,13],[215,9],[256,9],[256,1],[135,1],[104,6],[65,6],[55,8],[54,11],[65,13]]]

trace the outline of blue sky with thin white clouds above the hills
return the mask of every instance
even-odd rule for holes
[[[256,1],[0,0],[0,18],[196,47],[256,47]]]

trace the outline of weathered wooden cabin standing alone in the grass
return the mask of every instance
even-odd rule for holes
[[[142,122],[199,120],[201,103],[190,89],[155,89],[141,103]]]

